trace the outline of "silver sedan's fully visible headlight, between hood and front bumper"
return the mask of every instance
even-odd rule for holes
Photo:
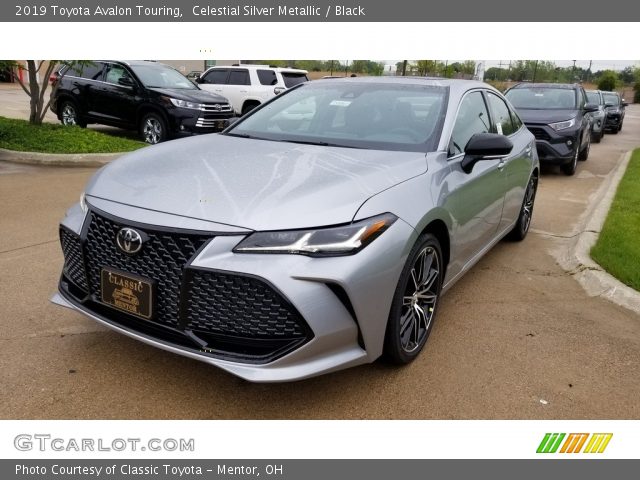
[[[352,255],[373,242],[397,220],[385,213],[349,225],[317,230],[256,232],[233,249],[236,253],[294,253],[312,257]]]

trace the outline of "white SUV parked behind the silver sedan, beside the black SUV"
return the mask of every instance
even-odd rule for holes
[[[211,67],[196,80],[200,88],[226,97],[238,115],[299,83],[308,81],[306,70],[269,65]]]

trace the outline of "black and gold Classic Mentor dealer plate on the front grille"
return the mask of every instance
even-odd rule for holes
[[[149,319],[153,315],[153,282],[130,273],[103,268],[101,275],[102,301],[107,305],[137,317]]]

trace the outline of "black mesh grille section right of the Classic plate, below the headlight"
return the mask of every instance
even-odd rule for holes
[[[295,308],[258,279],[194,270],[187,291],[187,329],[250,339],[306,336]]]

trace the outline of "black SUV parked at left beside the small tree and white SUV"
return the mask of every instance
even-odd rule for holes
[[[82,62],[65,67],[57,82],[51,110],[63,124],[138,130],[147,143],[217,132],[234,116],[226,98],[162,63]]]

